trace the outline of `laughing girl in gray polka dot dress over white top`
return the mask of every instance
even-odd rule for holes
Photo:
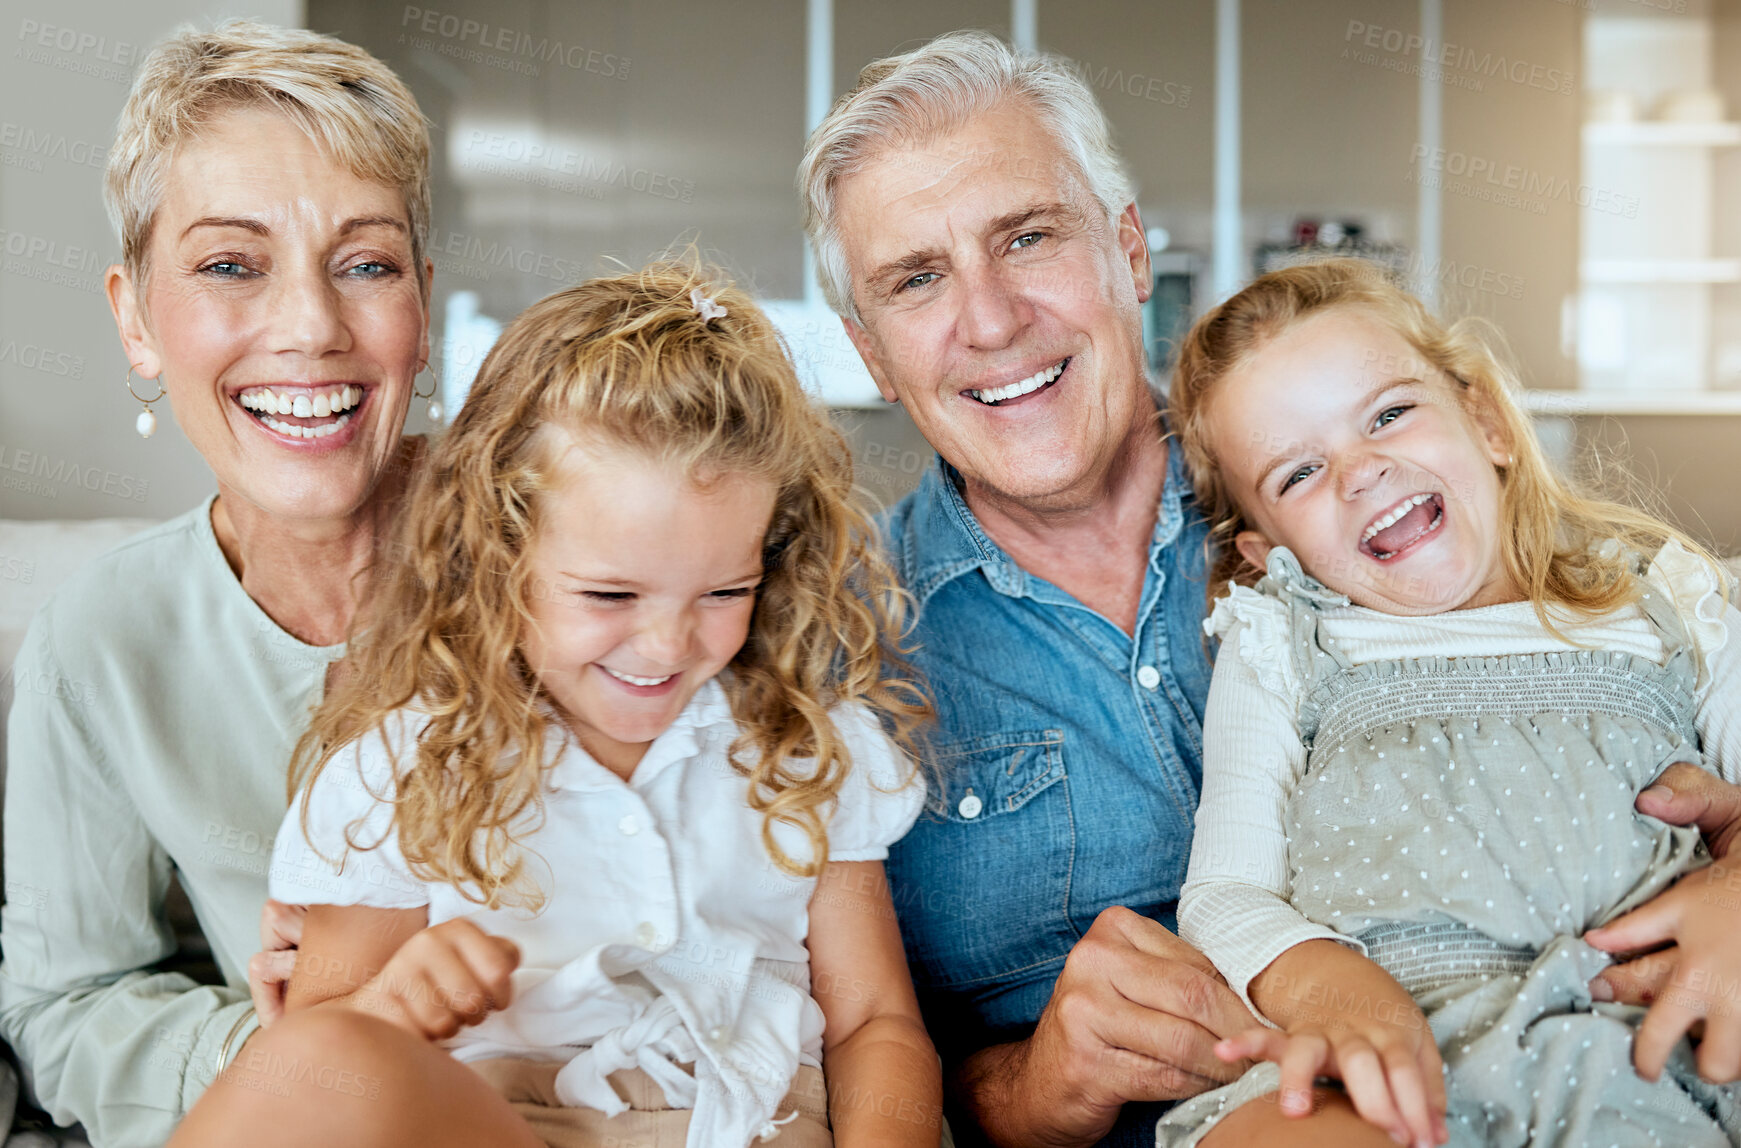
[[[1574,493],[1485,343],[1367,263],[1224,303],[1172,404],[1226,591],[1179,923],[1271,1028],[1160,1143],[1741,1145],[1741,866],[1633,808],[1741,772],[1722,570]],[[1649,1019],[1591,998],[1666,941]]]

